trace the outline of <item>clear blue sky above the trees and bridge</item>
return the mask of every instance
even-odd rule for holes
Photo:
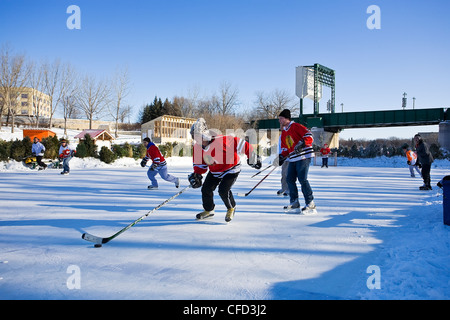
[[[80,30],[66,26],[70,5],[81,10]],[[381,10],[379,30],[366,26],[370,5]],[[449,21],[448,0],[0,0],[0,44],[99,78],[127,66],[136,113],[155,96],[207,96],[223,81],[238,88],[242,109],[256,91],[294,96],[295,67],[314,63],[336,71],[337,111],[400,109],[403,92],[409,108],[412,97],[433,108],[450,105]],[[420,129],[395,130],[387,136]]]

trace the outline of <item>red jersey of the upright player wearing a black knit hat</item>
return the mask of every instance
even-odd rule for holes
[[[303,140],[305,146],[299,153],[294,151],[297,143]],[[295,162],[314,157],[314,150],[312,147],[314,139],[311,131],[299,123],[291,121],[289,125],[281,131],[281,155],[288,157],[289,162]]]

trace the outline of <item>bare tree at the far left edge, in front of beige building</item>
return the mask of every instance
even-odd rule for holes
[[[26,65],[24,55],[13,55],[9,46],[4,45],[0,50],[0,99],[3,109],[6,108],[12,119],[11,132],[14,133],[15,116],[18,111],[20,88],[25,87],[29,65]]]

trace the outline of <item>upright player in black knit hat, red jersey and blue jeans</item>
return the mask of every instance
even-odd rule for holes
[[[289,186],[290,204],[285,209],[300,208],[296,185],[298,179],[306,203],[301,212],[302,214],[314,214],[316,213],[316,205],[314,204],[313,191],[308,181],[309,165],[311,158],[314,157],[313,136],[308,128],[291,121],[291,112],[288,109],[284,109],[280,113],[278,120],[283,127],[279,164],[282,165],[284,161],[289,161],[287,183]]]

